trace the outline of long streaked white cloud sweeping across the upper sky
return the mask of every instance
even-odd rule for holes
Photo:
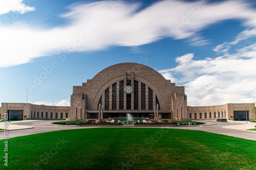
[[[163,37],[191,38],[191,45],[204,45],[208,41],[197,33],[225,19],[241,19],[244,25],[256,26],[256,12],[243,1],[202,2],[165,0],[140,11],[140,4],[125,1],[114,6],[108,1],[73,4],[70,12],[62,15],[70,20],[64,26],[35,28],[20,22],[1,26],[0,67],[28,63],[33,58],[63,51],[138,46]]]

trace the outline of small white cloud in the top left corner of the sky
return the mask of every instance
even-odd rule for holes
[[[23,3],[23,0],[3,0],[0,1],[0,15],[7,14],[9,12],[18,12],[19,14],[25,14],[29,11],[34,11],[34,7],[29,7]]]

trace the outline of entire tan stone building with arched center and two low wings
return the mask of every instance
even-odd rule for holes
[[[2,103],[1,115],[11,119],[254,119],[254,103],[187,106],[184,86],[176,86],[156,70],[137,63],[120,63],[100,71],[81,86],[73,86],[71,106]],[[3,117],[3,116],[2,116]]]

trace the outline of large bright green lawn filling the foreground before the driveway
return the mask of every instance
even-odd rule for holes
[[[256,169],[256,141],[202,131],[92,128],[8,142],[0,169]]]

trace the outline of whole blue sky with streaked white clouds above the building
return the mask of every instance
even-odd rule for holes
[[[0,2],[0,102],[69,106],[122,62],[185,86],[188,105],[256,102],[256,2]]]

